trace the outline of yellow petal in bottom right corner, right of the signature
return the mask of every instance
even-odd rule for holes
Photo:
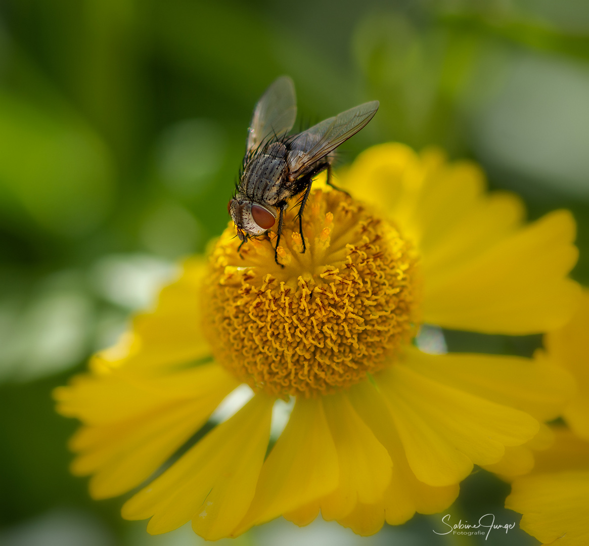
[[[505,508],[523,514],[519,527],[545,544],[589,544],[589,472],[555,472],[516,479]]]

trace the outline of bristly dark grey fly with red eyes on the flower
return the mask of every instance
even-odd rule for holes
[[[227,204],[241,244],[249,237],[267,233],[278,220],[274,261],[282,266],[278,245],[284,212],[289,199],[302,194],[297,216],[305,252],[303,211],[313,178],[327,170],[327,184],[333,187],[333,152],[372,120],[378,106],[378,101],[365,102],[303,133],[289,135],[296,119],[293,81],[282,76],[267,88],[256,104],[237,190]]]

